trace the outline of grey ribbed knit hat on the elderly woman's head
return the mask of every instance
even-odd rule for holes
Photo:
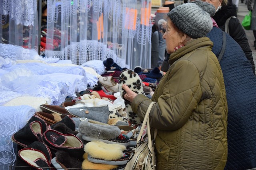
[[[212,29],[210,14],[194,3],[179,5],[167,15],[180,31],[193,39],[205,37]]]

